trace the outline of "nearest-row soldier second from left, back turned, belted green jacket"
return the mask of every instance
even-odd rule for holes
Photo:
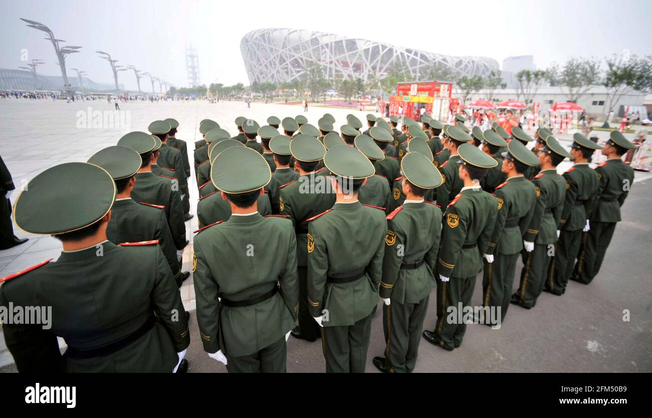
[[[256,201],[271,172],[245,146],[216,156],[211,178],[233,213],[194,239],[193,280],[203,349],[229,372],[285,372],[299,290],[292,225]]]

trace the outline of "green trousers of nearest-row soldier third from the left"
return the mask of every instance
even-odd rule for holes
[[[351,326],[321,328],[327,373],[364,373],[371,336],[371,314]]]

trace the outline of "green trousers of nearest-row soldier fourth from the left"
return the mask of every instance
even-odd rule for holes
[[[423,320],[428,311],[428,298],[419,303],[383,303],[385,358],[390,373],[411,373],[417,363]]]

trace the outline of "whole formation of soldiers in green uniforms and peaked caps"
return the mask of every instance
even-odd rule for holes
[[[634,180],[621,160],[634,145],[619,132],[604,147],[576,133],[569,153],[546,128],[471,131],[462,115],[404,118],[401,131],[395,116],[367,115],[364,131],[354,115],[339,131],[328,113],[317,126],[266,122],[236,118],[231,136],[202,120],[194,144],[199,338],[229,372],[284,372],[289,335],[321,338],[328,372],[364,372],[379,300],[386,344],[373,364],[411,372],[421,337],[461,346],[467,322],[449,313],[471,307],[481,271],[475,320],[488,325],[544,290],[561,296],[570,279],[590,283]],[[192,173],[178,127],[156,120],[21,193],[16,225],[55,236],[63,253],[1,279],[0,305],[53,307],[51,329],[5,324],[20,371],[188,369],[178,289]],[[608,160],[591,169],[595,150]],[[574,165],[560,175],[565,158]],[[437,319],[423,331],[435,288]]]

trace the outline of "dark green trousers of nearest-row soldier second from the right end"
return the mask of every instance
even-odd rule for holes
[[[580,252],[582,230],[562,230],[555,244],[555,257],[550,261],[546,290],[556,295],[566,292],[566,285],[572,275],[575,257]]]

